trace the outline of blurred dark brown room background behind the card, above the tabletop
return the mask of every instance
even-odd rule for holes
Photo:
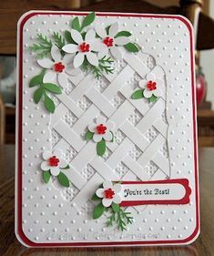
[[[16,23],[28,10],[88,10],[177,14],[189,18],[196,38],[199,146],[214,147],[213,0],[7,0],[0,5],[0,144],[15,144]],[[18,71],[17,71],[18,72]]]

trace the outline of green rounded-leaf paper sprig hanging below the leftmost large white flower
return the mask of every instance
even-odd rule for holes
[[[43,77],[45,76],[46,70],[43,69],[42,72],[37,75],[36,77],[33,77],[30,80],[29,87],[38,87],[34,93],[34,101],[36,104],[41,99],[44,99],[44,106],[46,110],[50,113],[55,112],[55,103],[51,97],[48,96],[49,93],[52,94],[61,94],[62,90],[60,87],[56,86],[52,83],[44,83]]]

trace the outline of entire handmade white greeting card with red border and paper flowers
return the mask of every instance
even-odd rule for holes
[[[199,235],[193,31],[179,15],[18,22],[15,233],[29,247]]]

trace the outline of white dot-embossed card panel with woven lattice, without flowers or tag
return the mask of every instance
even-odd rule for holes
[[[97,16],[97,23],[108,26],[118,22],[121,30],[131,31],[142,51],[138,55],[124,52],[124,58],[114,63],[114,74],[100,80],[89,73],[71,78],[63,94],[54,97],[56,112],[52,115],[33,102],[34,89],[28,84],[40,69],[28,47],[35,43],[37,33],[51,36],[54,31],[69,29],[72,18],[74,15],[44,13],[33,15],[24,26],[20,143],[25,236],[39,243],[168,243],[189,238],[196,227],[196,205],[188,27],[170,17]],[[138,82],[156,67],[162,70],[163,97],[156,103],[131,99]],[[95,97],[97,93],[99,97]],[[98,115],[116,123],[115,141],[107,144],[103,159],[97,157],[96,144],[83,139],[87,125]],[[71,166],[66,172],[72,181],[68,189],[60,187],[57,180],[42,182],[41,153],[54,148],[64,151]],[[107,228],[105,217],[92,220],[94,202],[90,197],[104,179],[178,178],[189,179],[192,194],[188,205],[129,207],[135,221],[124,232]]]

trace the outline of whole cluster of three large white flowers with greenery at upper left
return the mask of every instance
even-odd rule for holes
[[[47,36],[37,34],[38,43],[29,48],[36,53],[38,65],[44,68],[40,75],[30,80],[29,87],[39,86],[34,101],[37,104],[44,97],[45,108],[50,113],[55,111],[55,102],[47,92],[61,94],[60,87],[66,87],[69,77],[81,72],[79,67],[85,71],[91,69],[95,77],[99,78],[103,72],[114,72],[111,67],[114,60],[111,57],[122,58],[119,47],[123,46],[129,52],[139,51],[139,46],[129,40],[130,32],[118,31],[118,23],[107,27],[97,24],[88,29],[95,19],[95,13],[88,14],[80,25],[76,16],[71,29],[65,30],[64,35],[54,32],[48,39]],[[56,77],[57,85],[52,83]]]

